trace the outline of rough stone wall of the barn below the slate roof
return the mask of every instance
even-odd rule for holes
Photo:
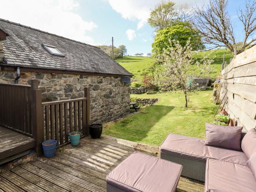
[[[84,97],[84,87],[90,86],[91,123],[112,121],[129,113],[130,85],[121,77],[44,74],[21,72],[19,84],[29,84],[37,78],[42,90],[42,102]],[[14,83],[15,72],[0,71],[0,83]]]

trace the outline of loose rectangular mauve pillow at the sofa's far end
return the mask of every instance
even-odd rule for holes
[[[241,133],[243,127],[229,127],[212,123],[206,123],[205,127],[205,145],[241,151]]]

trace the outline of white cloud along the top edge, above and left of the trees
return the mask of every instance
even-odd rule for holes
[[[153,9],[161,0],[109,0],[113,10],[120,13],[123,18],[135,21],[139,20],[137,29],[142,28],[150,17],[150,9]],[[189,3],[201,5],[205,0],[172,0],[174,3]]]

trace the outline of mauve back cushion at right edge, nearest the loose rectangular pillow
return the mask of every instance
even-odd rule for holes
[[[242,150],[246,154],[246,156],[251,158],[252,154],[256,152],[256,130],[255,128],[248,131],[244,138],[242,139]]]

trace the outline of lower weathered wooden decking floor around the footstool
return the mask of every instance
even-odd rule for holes
[[[134,151],[159,157],[158,147],[102,136],[86,137],[79,146],[61,147],[52,158],[35,161],[0,174],[0,192],[106,191],[106,175]],[[204,184],[181,177],[178,192],[203,192]]]

